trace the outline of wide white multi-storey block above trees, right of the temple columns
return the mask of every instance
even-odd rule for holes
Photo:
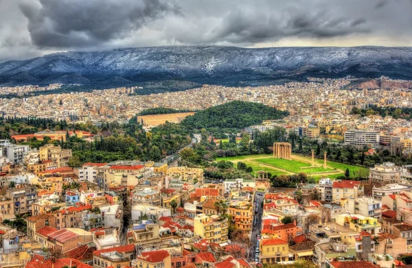
[[[376,130],[347,130],[344,134],[344,141],[347,145],[377,148],[379,146],[379,132]]]

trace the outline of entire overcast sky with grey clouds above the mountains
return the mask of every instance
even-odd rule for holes
[[[0,62],[159,45],[411,46],[411,0],[0,0]]]

